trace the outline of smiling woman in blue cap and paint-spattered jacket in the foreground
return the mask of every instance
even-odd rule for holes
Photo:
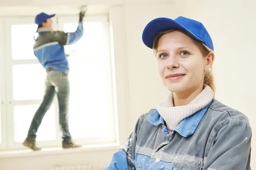
[[[143,114],[104,170],[249,170],[247,117],[214,99],[214,48],[204,25],[178,17],[152,20],[143,31],[166,99]]]

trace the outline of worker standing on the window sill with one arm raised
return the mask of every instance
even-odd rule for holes
[[[45,113],[49,110],[55,93],[58,97],[59,124],[62,132],[62,148],[80,147],[72,141],[68,127],[68,105],[70,96],[69,62],[64,51],[64,45],[78,42],[83,36],[83,18],[86,11],[80,11],[79,26],[75,32],[65,33],[53,30],[53,15],[38,14],[35,23],[38,24],[35,36],[34,54],[46,69],[45,92],[43,101],[35,112],[29,127],[28,135],[23,145],[32,150],[41,150],[36,147],[36,133],[41,125]]]

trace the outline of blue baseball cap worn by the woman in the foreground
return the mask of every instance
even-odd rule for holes
[[[144,28],[142,40],[147,47],[152,49],[153,41],[157,34],[170,29],[183,29],[192,35],[192,37],[195,37],[195,39],[203,42],[212,51],[214,49],[212,39],[204,25],[186,17],[177,17],[175,20],[170,18],[156,18],[150,21]]]

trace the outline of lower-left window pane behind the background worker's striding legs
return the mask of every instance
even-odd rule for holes
[[[17,105],[14,107],[14,138],[23,142],[27,136],[32,118],[39,105]],[[55,107],[52,105],[44,116],[37,132],[37,141],[55,140]]]

